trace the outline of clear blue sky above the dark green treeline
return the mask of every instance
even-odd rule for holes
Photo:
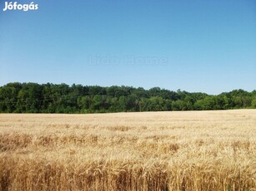
[[[34,3],[37,11],[3,12],[0,0],[0,86],[256,89],[255,0]]]

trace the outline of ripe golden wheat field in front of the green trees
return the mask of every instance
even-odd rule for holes
[[[255,190],[256,110],[1,114],[16,189]]]

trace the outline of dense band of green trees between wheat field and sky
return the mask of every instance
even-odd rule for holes
[[[8,83],[0,87],[1,113],[103,113],[162,110],[228,110],[256,108],[256,91],[205,93],[144,90],[131,86]]]

